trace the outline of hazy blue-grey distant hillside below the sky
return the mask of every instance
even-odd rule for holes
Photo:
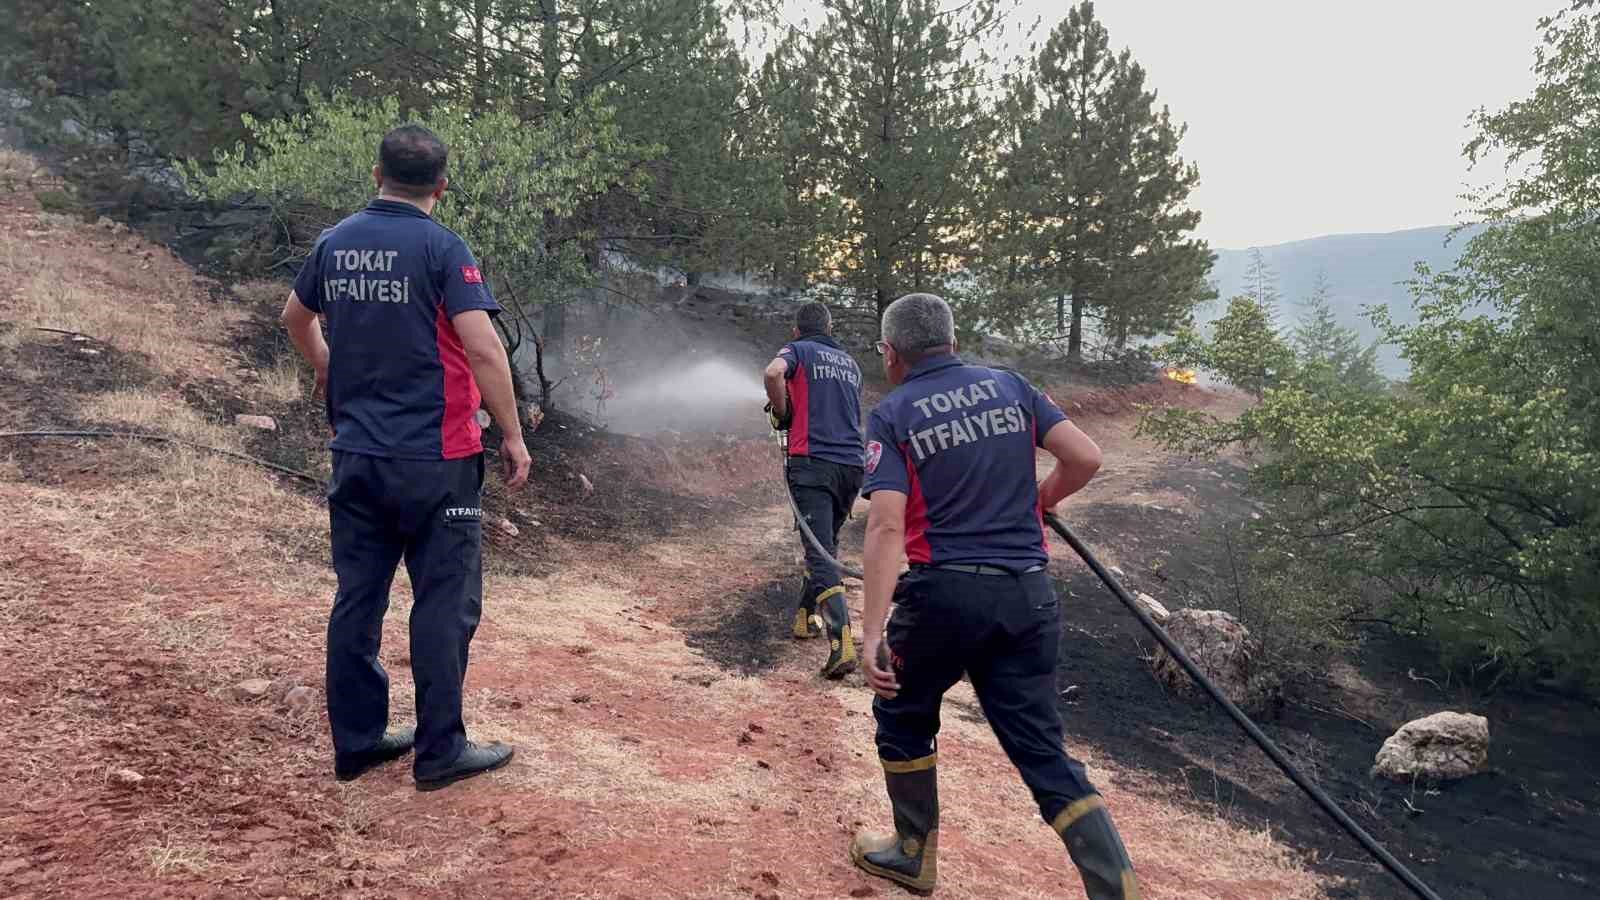
[[[1362,338],[1370,341],[1378,336],[1362,314],[1363,306],[1382,304],[1397,322],[1414,320],[1405,282],[1414,275],[1416,264],[1451,269],[1461,248],[1477,234],[1477,229],[1466,229],[1451,235],[1453,231],[1454,226],[1438,226],[1392,234],[1334,234],[1262,247],[1262,256],[1278,275],[1283,323],[1291,325],[1299,317],[1299,303],[1310,296],[1318,271],[1328,272],[1339,320],[1357,328]],[[1218,301],[1202,311],[1203,323],[1222,314],[1227,298],[1243,293],[1248,267],[1250,250],[1218,251],[1211,271]],[[1387,375],[1405,373],[1405,362],[1392,349],[1381,349],[1379,360]]]

